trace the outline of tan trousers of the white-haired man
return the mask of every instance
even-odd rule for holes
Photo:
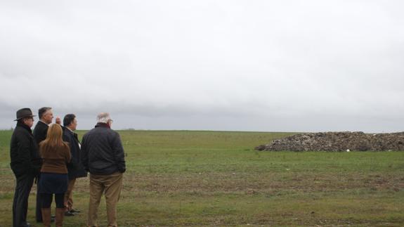
[[[98,206],[101,196],[105,194],[107,205],[108,227],[117,224],[117,202],[122,190],[122,173],[116,172],[110,175],[90,174],[90,203],[88,226],[98,226]]]

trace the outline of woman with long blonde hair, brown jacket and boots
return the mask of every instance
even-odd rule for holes
[[[70,162],[69,144],[62,139],[63,130],[59,124],[48,128],[46,139],[39,143],[39,152],[43,160],[39,193],[41,193],[42,219],[44,226],[51,226],[51,203],[53,194],[56,201],[56,226],[63,226],[65,215],[64,197],[69,182],[66,164]]]

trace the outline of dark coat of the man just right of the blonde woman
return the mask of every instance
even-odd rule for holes
[[[80,150],[80,142],[79,138],[77,138],[77,134],[63,127],[63,141],[69,143],[70,153],[72,154],[72,160],[67,164],[69,179],[72,180],[87,176],[87,171],[82,164],[82,150]]]

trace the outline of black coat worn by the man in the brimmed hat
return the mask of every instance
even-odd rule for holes
[[[18,123],[11,136],[10,166],[15,176],[24,174],[39,175],[41,156],[38,145],[32,136],[32,130],[25,124]]]

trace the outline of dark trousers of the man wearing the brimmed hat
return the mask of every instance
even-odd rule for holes
[[[25,174],[16,176],[15,193],[13,200],[13,227],[24,226],[27,223],[28,197],[32,185],[34,184],[34,176]]]

